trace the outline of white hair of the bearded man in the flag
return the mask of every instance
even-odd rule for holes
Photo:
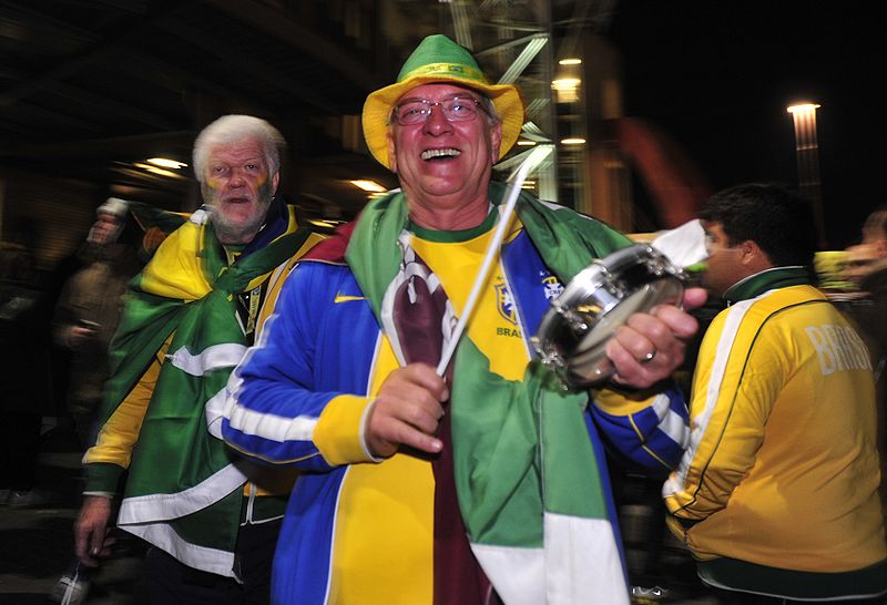
[[[213,147],[245,139],[254,139],[262,144],[268,174],[281,170],[281,151],[286,148],[286,141],[277,129],[252,115],[223,115],[203,129],[194,141],[194,176],[197,182],[203,183]]]

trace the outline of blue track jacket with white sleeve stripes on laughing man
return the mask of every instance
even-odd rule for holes
[[[502,266],[527,339],[549,307],[542,279],[551,274],[526,232],[503,247]],[[232,375],[222,428],[225,440],[247,455],[304,471],[277,543],[274,603],[322,604],[329,597],[336,512],[351,464],[328,463],[313,441],[314,428],[334,397],[368,396],[381,338],[347,266],[303,262],[284,286],[261,341]],[[527,347],[532,350],[529,342]],[[590,396],[612,400],[614,391],[590,391]],[[608,410],[613,411],[612,406]],[[629,414],[589,406],[587,420],[602,466],[605,443],[621,461],[664,476],[676,465],[689,439],[686,406],[676,389],[653,398],[641,410],[635,406]],[[366,451],[354,457],[354,462],[373,463]],[[610,496],[605,468],[601,475]],[[609,500],[610,517],[616,519]],[[615,533],[619,536],[618,529]]]

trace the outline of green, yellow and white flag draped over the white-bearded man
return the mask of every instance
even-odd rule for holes
[[[228,375],[248,346],[237,294],[282,277],[287,260],[310,243],[310,232],[297,229],[288,211],[282,236],[231,266],[206,214],[195,213],[130,284],[111,343],[99,443],[110,440],[113,450],[109,429],[115,424],[135,424],[137,431],[118,525],[192,567],[224,576],[235,576],[246,475],[207,422],[221,410]],[[171,337],[139,430],[119,407]],[[113,484],[126,465],[125,459],[113,460],[113,451],[102,458],[106,450],[86,453],[88,489]]]

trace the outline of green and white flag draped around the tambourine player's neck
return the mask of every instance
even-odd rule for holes
[[[504,186],[492,183],[490,199],[499,205],[503,197]],[[517,214],[563,283],[630,244],[594,219],[527,194]],[[379,325],[386,293],[401,270],[407,223],[402,193],[377,199],[361,213],[346,252]],[[588,393],[564,390],[538,361],[528,365],[522,381],[506,380],[489,370],[467,336],[453,363],[456,492],[471,550],[496,591],[509,604],[628,604],[616,521],[608,517],[604,461],[584,416]]]

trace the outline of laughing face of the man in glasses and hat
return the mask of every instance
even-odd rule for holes
[[[422,84],[400,98],[439,102],[453,95],[480,95],[452,84]],[[487,217],[487,189],[492,164],[499,157],[500,124],[482,111],[473,120],[449,122],[439,105],[425,122],[388,132],[388,157],[407,195],[410,216],[436,229],[466,229]]]

